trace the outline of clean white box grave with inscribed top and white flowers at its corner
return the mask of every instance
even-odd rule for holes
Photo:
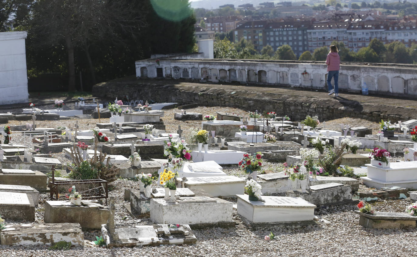
[[[314,208],[299,197],[262,196],[265,202],[249,201],[249,195],[237,195],[237,213],[254,224],[312,221]]]

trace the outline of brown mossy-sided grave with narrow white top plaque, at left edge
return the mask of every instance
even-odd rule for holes
[[[48,176],[40,171],[2,169],[0,172],[0,184],[31,186],[39,191],[46,190],[47,179]]]

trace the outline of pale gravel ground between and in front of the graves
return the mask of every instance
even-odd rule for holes
[[[68,107],[68,106],[67,106]],[[220,107],[198,107],[188,110],[189,112],[199,112],[203,115],[215,114],[217,110],[228,113],[246,114],[245,111],[236,108]],[[1,111],[1,110],[0,110]],[[3,110],[4,111],[4,110]],[[8,110],[10,111],[10,110]],[[189,128],[199,128],[200,121],[176,121],[173,113],[177,111],[166,110],[163,118],[167,131],[174,132],[178,125],[187,134]],[[78,124],[81,129],[92,128],[98,120],[79,119]],[[105,122],[105,120],[102,120]],[[10,125],[25,124],[26,121],[10,121]],[[63,121],[38,121],[40,127],[73,127],[75,119]],[[369,126],[377,131],[378,123],[373,123],[361,119],[343,118],[334,121],[326,121],[326,127],[338,129],[340,123],[350,126]],[[24,144],[33,147],[31,138],[22,136],[13,138],[13,143]],[[53,157],[63,162],[69,161],[63,154],[52,154]],[[280,171],[281,163],[265,162],[265,169]],[[237,166],[227,166],[224,168],[226,174],[244,178],[246,175]],[[154,184],[156,186],[156,184]],[[126,224],[149,224],[149,217],[135,219],[131,217],[123,207],[124,189],[138,189],[136,181],[130,179],[118,179],[110,185],[110,196],[115,197],[116,202],[116,225]],[[366,186],[360,185],[360,189],[369,190]],[[48,200],[48,194],[42,193],[40,196],[39,207],[36,209],[37,222],[43,222],[45,210],[44,201]],[[235,198],[228,198],[231,202],[236,202]],[[402,200],[383,200],[372,203],[377,211],[402,212],[409,199]],[[70,250],[48,250],[46,247],[8,247],[0,246],[0,256],[3,257],[32,257],[32,256],[415,256],[414,247],[417,243],[414,238],[417,236],[417,229],[364,229],[359,226],[359,215],[354,214],[356,205],[330,206],[316,210],[316,224],[274,226],[263,229],[254,229],[244,218],[240,217],[236,210],[233,212],[233,219],[236,226],[228,229],[209,228],[195,229],[198,242],[193,245],[183,246],[158,246],[142,248],[99,248],[85,244],[84,248],[73,247]],[[7,218],[7,217],[6,217]],[[6,220],[6,225],[11,224]],[[265,241],[264,236],[273,232],[276,238]],[[85,239],[92,241],[98,230],[85,231]]]

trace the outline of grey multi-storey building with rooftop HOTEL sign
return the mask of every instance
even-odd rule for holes
[[[310,21],[285,21],[266,24],[264,30],[266,45],[271,45],[274,51],[282,45],[291,46],[295,55],[299,57],[304,51],[308,51],[307,30]]]

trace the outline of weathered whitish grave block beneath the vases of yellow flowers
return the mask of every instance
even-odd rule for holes
[[[183,197],[187,198],[187,197]],[[213,198],[216,202],[170,203],[151,199],[151,220],[157,224],[190,224],[191,227],[229,227],[233,203]]]

